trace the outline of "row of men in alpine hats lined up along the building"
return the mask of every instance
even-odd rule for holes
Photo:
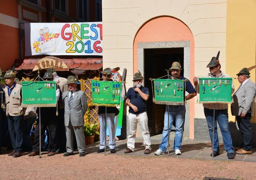
[[[227,78],[230,77],[221,70],[219,63],[219,53],[216,57],[212,57],[209,64],[209,74],[205,77],[208,78]],[[255,108],[255,94],[256,85],[250,80],[250,70],[252,68],[243,68],[238,74],[239,88],[235,91],[232,84],[232,92],[234,103],[231,105],[232,115],[235,116],[243,137],[241,147],[236,150],[237,154],[251,154],[252,148],[252,129],[251,117]],[[171,79],[180,79],[184,81],[184,101],[192,99],[199,93],[198,77],[193,78],[193,84],[180,75],[182,67],[179,62],[172,63],[170,68]],[[111,68],[105,68],[102,72],[102,81],[112,81]],[[168,77],[169,78],[169,77]],[[21,84],[15,81],[15,74],[12,70],[8,70],[5,76],[6,86],[0,86],[0,96],[3,102],[0,109],[0,127],[3,124],[3,117],[6,114],[8,122],[8,132],[10,134],[10,142],[13,151],[8,154],[13,157],[20,157],[23,152],[30,152],[29,156],[39,155],[39,128],[41,128],[41,136],[44,137],[45,130],[48,131],[49,145],[47,147],[48,156],[55,155],[57,152],[65,152],[64,156],[73,155],[74,143],[73,133],[75,132],[76,144],[79,156],[86,155],[86,145],[84,137],[84,114],[87,110],[86,95],[83,91],[77,89],[77,80],[74,76],[68,76],[68,79],[57,76],[55,71],[47,71],[44,74],[44,81],[56,81],[57,83],[57,101],[59,116],[56,116],[56,109],[52,107],[41,108],[41,127],[37,121],[34,130],[34,145],[31,145],[29,139],[28,122],[24,118],[29,119],[29,114],[38,114],[34,108],[25,109],[22,107],[22,93]],[[140,72],[135,73],[133,76],[133,87],[128,89],[125,104],[129,107],[128,121],[129,121],[129,134],[127,137],[127,148],[124,153],[134,152],[137,125],[139,124],[142,136],[144,139],[145,151],[144,154],[151,153],[150,134],[148,127],[148,117],[146,109],[146,101],[149,99],[149,89],[143,86],[143,76]],[[185,92],[187,92],[185,94]],[[228,105],[221,103],[208,103],[203,104],[206,123],[209,128],[209,137],[212,142],[213,152],[210,154],[215,157],[219,155],[219,139],[217,133],[217,123],[222,134],[227,158],[235,158],[235,149],[232,144],[230,129],[228,126]],[[5,110],[4,110],[4,109]],[[107,112],[105,112],[107,111]],[[214,112],[215,111],[215,112]],[[173,142],[173,150],[176,155],[181,155],[181,142],[183,139],[184,122],[185,122],[185,105],[169,105],[166,106],[164,116],[164,128],[162,132],[162,140],[159,144],[159,149],[154,152],[155,155],[164,155],[167,152],[169,143],[170,131],[172,124],[175,124],[175,138]],[[115,153],[115,116],[119,111],[116,107],[99,106],[99,124],[100,124],[100,146],[97,150],[98,153],[104,152],[105,149],[105,124],[109,127],[109,148],[111,153]],[[214,116],[215,113],[215,116]],[[105,116],[107,114],[107,116]],[[35,116],[35,115],[34,115]],[[169,116],[169,117],[168,117]],[[215,118],[214,118],[215,117]],[[168,124],[169,119],[169,124]],[[214,124],[214,127],[213,127]],[[168,129],[169,127],[169,129]],[[214,133],[214,139],[212,139]],[[3,134],[2,132],[0,134]],[[0,139],[0,142],[2,140]],[[44,139],[42,138],[42,144]],[[1,144],[0,144],[1,147]]]

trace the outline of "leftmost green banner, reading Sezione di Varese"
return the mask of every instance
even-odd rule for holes
[[[47,83],[48,82],[48,83]],[[26,81],[22,85],[23,107],[56,107],[55,81]]]

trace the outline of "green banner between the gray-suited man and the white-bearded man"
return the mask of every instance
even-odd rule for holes
[[[122,82],[91,81],[92,103],[96,106],[119,106]]]

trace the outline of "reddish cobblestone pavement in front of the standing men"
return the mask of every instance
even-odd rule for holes
[[[183,179],[203,180],[204,177],[221,177],[238,180],[256,179],[256,153],[236,155],[235,160],[227,160],[223,146],[221,155],[212,159],[211,147],[207,142],[183,141],[182,155],[173,154],[170,144],[170,156],[155,156],[159,138],[152,137],[152,153],[144,155],[143,141],[136,140],[136,150],[124,154],[126,140],[118,141],[117,153],[97,154],[99,143],[87,146],[87,155],[63,157],[56,154],[52,157],[44,152],[39,156],[9,157],[8,152],[0,155],[0,179]],[[247,162],[246,162],[247,161]]]

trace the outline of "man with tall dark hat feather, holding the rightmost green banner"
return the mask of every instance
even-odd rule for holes
[[[228,74],[225,74],[223,71],[220,70],[221,65],[219,63],[219,52],[217,54],[217,57],[212,57],[211,61],[206,66],[206,68],[209,68],[210,73],[207,74],[205,77],[208,77],[208,78],[230,77]],[[197,93],[199,93],[198,78],[194,77],[193,82],[194,82]],[[234,91],[234,89],[235,88],[232,84],[232,91]],[[223,138],[224,147],[227,152],[227,157],[228,159],[234,159],[235,158],[234,147],[232,145],[232,138],[230,134],[230,129],[228,127],[228,113],[227,113],[228,104],[204,103],[203,106],[204,106],[204,115],[206,117],[206,122],[208,124],[209,134],[210,134],[212,148],[213,148],[213,153],[211,153],[211,156],[215,157],[219,155],[219,138],[218,138],[218,132],[217,132],[217,122],[218,122],[219,129],[221,131],[222,138]],[[215,119],[213,119],[214,108],[215,108]],[[212,139],[213,124],[214,124],[214,139]]]

